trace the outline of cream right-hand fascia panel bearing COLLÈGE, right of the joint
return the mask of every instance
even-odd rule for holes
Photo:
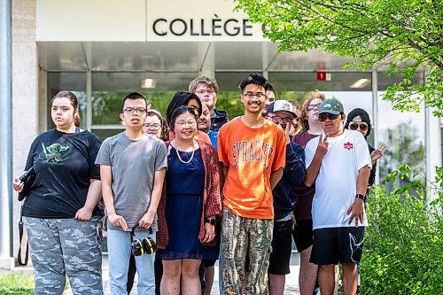
[[[231,0],[148,0],[147,41],[263,41]]]

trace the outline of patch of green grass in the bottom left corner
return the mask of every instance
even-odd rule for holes
[[[0,276],[1,295],[34,294],[34,276],[6,275]]]

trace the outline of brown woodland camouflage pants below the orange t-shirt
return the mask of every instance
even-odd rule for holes
[[[241,284],[245,276],[245,257],[248,250],[251,272],[246,285],[246,294],[268,294],[268,265],[273,227],[273,220],[237,216],[227,207],[223,207],[221,227],[223,294],[241,294]]]

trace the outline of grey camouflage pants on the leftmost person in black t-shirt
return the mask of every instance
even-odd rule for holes
[[[74,294],[103,294],[101,221],[24,217],[35,294],[62,294],[66,275]]]

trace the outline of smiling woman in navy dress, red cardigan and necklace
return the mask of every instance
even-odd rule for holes
[[[215,259],[215,221],[221,215],[221,170],[211,144],[194,138],[197,116],[186,106],[172,114],[165,196],[159,204],[157,255],[163,260],[161,294],[201,294],[198,267]],[[214,257],[213,257],[214,256]]]

